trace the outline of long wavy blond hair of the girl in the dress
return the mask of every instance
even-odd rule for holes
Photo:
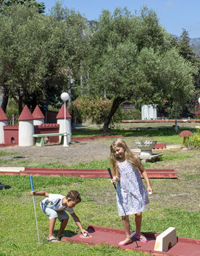
[[[110,164],[111,164],[111,171],[113,176],[120,177],[120,171],[118,166],[117,157],[115,154],[114,148],[124,148],[125,150],[125,160],[129,161],[133,168],[138,167],[138,163],[136,161],[136,156],[130,151],[128,145],[126,145],[125,141],[122,139],[117,139],[112,142],[110,146]]]

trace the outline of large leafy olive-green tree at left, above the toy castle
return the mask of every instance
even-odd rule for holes
[[[48,105],[65,83],[66,25],[26,4],[10,7],[0,23],[0,85],[5,95],[14,98],[19,113],[25,103],[30,108]]]

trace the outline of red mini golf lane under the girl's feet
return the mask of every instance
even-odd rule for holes
[[[83,234],[78,233],[75,236],[63,237],[62,241],[70,241],[73,244],[86,244],[86,245],[101,245],[107,244],[112,247],[118,247],[120,249],[139,251],[150,253],[154,256],[162,255],[173,255],[173,256],[199,256],[200,255],[200,240],[186,239],[176,237],[176,244],[170,248],[167,244],[167,252],[158,252],[154,250],[158,234],[155,233],[143,233],[144,236],[149,240],[148,243],[144,244],[141,241],[133,239],[133,243],[128,244],[124,247],[119,247],[119,241],[125,239],[125,232],[122,229],[117,228],[105,228],[96,225],[88,226],[88,236],[84,237]],[[167,240],[168,242],[169,240]]]

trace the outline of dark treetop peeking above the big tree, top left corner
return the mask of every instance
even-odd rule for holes
[[[0,13],[7,12],[8,7],[13,4],[28,4],[29,7],[36,7],[39,13],[43,13],[45,5],[43,2],[38,3],[36,0],[0,0]]]

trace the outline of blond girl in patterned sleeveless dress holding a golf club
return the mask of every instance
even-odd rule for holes
[[[152,193],[153,190],[149,182],[149,177],[143,169],[140,159],[131,153],[125,141],[122,139],[114,140],[110,146],[110,163],[113,175],[112,183],[117,183],[118,213],[122,216],[122,225],[126,235],[126,239],[120,241],[119,245],[125,246],[132,241],[130,239],[131,233],[128,215],[133,214],[135,214],[136,221],[136,234],[134,237],[146,243],[148,240],[141,233],[141,220],[142,212],[146,210],[146,204],[149,204],[149,198],[138,170],[140,170],[146,180],[147,190]],[[120,199],[118,196],[120,196]]]

